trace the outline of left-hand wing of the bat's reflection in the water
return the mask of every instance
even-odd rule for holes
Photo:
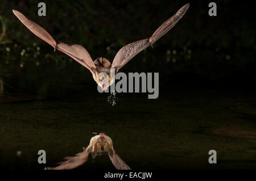
[[[89,147],[89,146],[88,146]],[[88,156],[90,154],[90,148],[86,148],[86,150],[82,151],[81,153],[77,153],[75,157],[65,157],[66,161],[60,162],[60,166],[50,168],[51,170],[69,170],[75,169],[76,167],[84,164]]]

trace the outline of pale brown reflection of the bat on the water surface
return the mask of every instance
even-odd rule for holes
[[[109,158],[112,161],[115,169],[118,170],[131,170],[125,162],[115,153],[113,149],[113,143],[109,136],[106,136],[104,133],[100,133],[97,136],[94,136],[90,139],[90,144],[87,148],[84,148],[84,151],[77,153],[75,157],[65,157],[66,161],[60,162],[59,166],[53,167],[50,169],[53,170],[65,170],[65,169],[74,169],[82,164],[84,164],[89,154],[92,154],[94,159],[97,155],[109,154]]]

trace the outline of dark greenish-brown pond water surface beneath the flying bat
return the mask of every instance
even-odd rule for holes
[[[14,78],[5,82],[15,86]],[[0,98],[1,167],[55,166],[89,145],[92,132],[105,132],[131,169],[256,168],[255,95],[173,87],[160,89],[158,99],[117,94],[117,104],[110,106],[109,94],[88,84],[49,81],[48,91],[40,94],[6,86],[9,91]],[[46,165],[37,162],[41,149],[47,153]],[[212,149],[217,150],[216,165],[208,163]],[[78,169],[96,168],[114,169],[107,155],[89,158]]]

